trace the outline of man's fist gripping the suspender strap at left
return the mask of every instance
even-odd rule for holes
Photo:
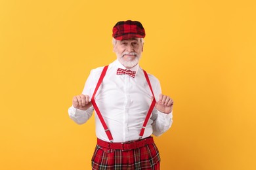
[[[89,101],[89,95],[76,95],[73,97],[73,106],[75,109],[87,110],[91,107],[92,103]]]

